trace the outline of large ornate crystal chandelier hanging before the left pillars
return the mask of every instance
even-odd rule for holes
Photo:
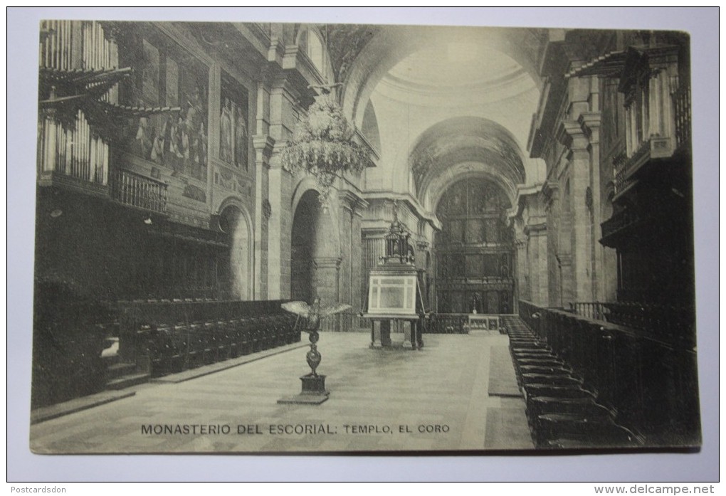
[[[295,130],[290,145],[282,152],[282,166],[289,171],[314,176],[320,187],[320,202],[328,206],[330,187],[344,172],[361,172],[372,166],[370,155],[353,139],[348,124],[331,89],[334,86],[309,86],[321,90],[310,105],[306,118]]]

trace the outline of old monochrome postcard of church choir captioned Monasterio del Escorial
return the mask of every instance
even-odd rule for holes
[[[40,28],[34,451],[701,443],[688,34]]]

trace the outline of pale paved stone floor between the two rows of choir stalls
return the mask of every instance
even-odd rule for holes
[[[507,336],[428,335],[420,351],[370,349],[366,333],[322,333],[318,344],[318,372],[327,375],[330,391],[322,404],[277,404],[300,391],[298,376],[309,371],[306,350],[294,349],[189,381],[138,386],[132,397],[36,423],[30,448],[166,453],[533,447],[523,399],[511,394],[516,383],[505,358]],[[490,384],[509,392],[490,395]]]

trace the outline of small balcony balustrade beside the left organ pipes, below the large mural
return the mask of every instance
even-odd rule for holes
[[[161,214],[166,212],[167,187],[165,182],[121,168],[115,169],[111,174],[111,198],[124,205]]]

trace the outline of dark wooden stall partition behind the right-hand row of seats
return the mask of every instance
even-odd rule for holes
[[[584,388],[648,444],[698,442],[698,380],[692,330],[668,339],[519,301],[539,342],[584,378]]]

